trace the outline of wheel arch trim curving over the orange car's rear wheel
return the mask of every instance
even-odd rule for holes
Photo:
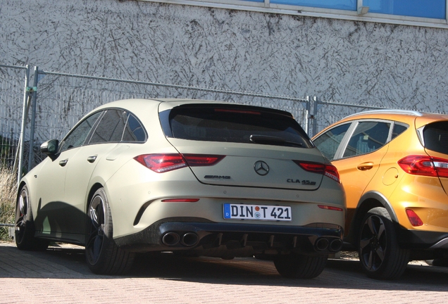
[[[385,198],[385,196],[378,191],[368,191],[359,199],[358,205],[356,206],[356,211],[350,223],[349,235],[344,241],[351,243],[357,248],[358,233],[361,221],[366,213],[368,213],[368,210],[376,207],[385,208],[387,213],[389,213],[392,222],[398,222],[394,208],[392,208],[392,205],[387,198]]]

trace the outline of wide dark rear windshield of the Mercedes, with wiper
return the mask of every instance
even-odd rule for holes
[[[292,115],[280,110],[235,105],[188,105],[170,110],[168,121],[169,129],[166,126],[163,131],[166,136],[178,139],[313,147]]]

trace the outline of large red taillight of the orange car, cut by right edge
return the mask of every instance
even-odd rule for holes
[[[398,161],[404,172],[411,175],[448,177],[448,160],[430,156],[406,156]]]

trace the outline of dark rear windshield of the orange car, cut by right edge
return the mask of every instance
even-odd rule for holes
[[[448,154],[448,121],[433,122],[423,129],[425,148]]]

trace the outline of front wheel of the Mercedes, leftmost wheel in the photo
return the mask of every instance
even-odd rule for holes
[[[30,196],[27,186],[20,189],[15,203],[15,245],[20,250],[44,251],[49,241],[35,238]]]

